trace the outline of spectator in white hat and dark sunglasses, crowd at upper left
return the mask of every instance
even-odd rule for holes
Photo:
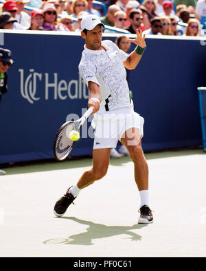
[[[57,12],[53,3],[45,3],[43,7],[44,21],[41,30],[56,31]]]

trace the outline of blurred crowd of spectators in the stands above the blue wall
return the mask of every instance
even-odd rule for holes
[[[7,30],[80,32],[83,16],[95,14],[105,33],[206,34],[206,0],[8,0],[0,12],[0,28]]]

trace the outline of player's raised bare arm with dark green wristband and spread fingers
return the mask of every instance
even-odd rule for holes
[[[128,38],[127,40],[138,45],[139,49],[136,47],[135,50],[129,54],[127,60],[124,61],[123,64],[126,69],[135,69],[139,60],[141,60],[141,56],[143,54],[142,51],[146,48],[145,35],[137,29],[137,38],[135,38],[135,40]]]

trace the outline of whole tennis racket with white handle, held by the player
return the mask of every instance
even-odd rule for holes
[[[80,132],[80,127],[83,125],[84,121],[91,115],[92,111],[93,106],[91,106],[80,119],[76,121],[67,121],[60,127],[54,139],[53,145],[53,151],[56,160],[65,160],[65,158],[67,158],[67,156],[70,154],[75,143],[75,141],[69,138],[70,132],[73,130]]]

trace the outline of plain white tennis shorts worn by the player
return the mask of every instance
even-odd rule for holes
[[[144,135],[144,118],[130,107],[96,113],[91,125],[95,129],[93,149],[116,148],[129,128],[139,128]]]

